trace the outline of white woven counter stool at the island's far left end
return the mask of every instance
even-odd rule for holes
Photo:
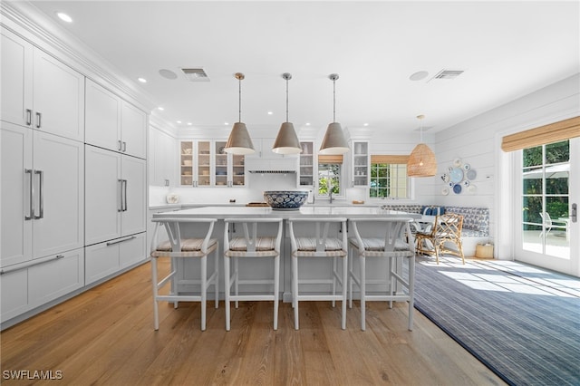
[[[208,299],[208,287],[214,285],[216,308],[219,303],[218,285],[218,239],[211,238],[214,225],[218,221],[216,218],[153,218],[155,232],[151,243],[151,282],[153,284],[153,314],[155,330],[160,328],[159,302],[174,302],[175,308],[179,302],[200,302],[201,303],[201,331],[206,330],[206,303]],[[205,236],[182,238],[182,225],[192,227],[207,227]],[[155,245],[160,226],[165,226],[169,240]],[[214,271],[208,277],[208,256],[214,253]],[[161,257],[171,259],[171,269],[169,275],[158,279],[157,260]],[[179,259],[199,259],[200,277],[199,279],[186,280],[179,278]],[[184,262],[180,262],[184,263]],[[160,288],[171,284],[169,294],[160,294]],[[179,294],[178,285],[200,285],[200,294]]]

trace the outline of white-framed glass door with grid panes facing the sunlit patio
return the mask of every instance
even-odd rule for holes
[[[580,139],[520,151],[519,230],[516,258],[569,275],[580,275],[578,223]]]

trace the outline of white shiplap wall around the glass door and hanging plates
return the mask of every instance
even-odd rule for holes
[[[447,171],[453,159],[460,158],[476,169],[475,194],[440,194],[444,184],[439,177],[430,179],[428,190],[435,192],[434,203],[444,206],[489,207],[491,235],[496,254],[511,259],[513,191],[511,154],[500,149],[503,136],[533,129],[580,115],[580,74],[556,82],[494,110],[437,133],[434,151],[439,174]]]

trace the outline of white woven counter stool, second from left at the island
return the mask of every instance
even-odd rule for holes
[[[224,279],[226,282],[226,331],[230,329],[230,302],[267,300],[274,302],[274,330],[278,329],[278,304],[280,287],[280,244],[282,241],[282,218],[226,218],[224,220]],[[258,230],[264,224],[266,229]],[[277,224],[277,229],[274,229]],[[231,226],[231,227],[230,227]],[[241,227],[243,236],[235,236],[234,227]],[[262,232],[262,233],[260,233]],[[267,234],[267,236],[266,236]],[[239,277],[239,260],[256,258],[264,260],[271,257],[274,274],[268,279]],[[230,274],[230,262],[234,272]],[[232,285],[234,294],[231,294]],[[239,294],[239,285],[272,285],[272,290],[263,294]]]

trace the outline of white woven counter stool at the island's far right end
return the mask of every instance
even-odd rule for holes
[[[366,302],[409,302],[408,329],[412,330],[415,247],[411,233],[412,218],[357,218],[349,220],[354,236],[349,237],[349,306],[353,307],[353,284],[361,291],[361,330],[365,330]],[[382,236],[375,236],[381,234]],[[372,235],[372,236],[371,236]],[[356,252],[356,254],[355,254]],[[359,269],[354,269],[353,255],[358,256]],[[387,269],[379,271],[380,278],[367,277],[366,260],[386,259]],[[407,261],[404,270],[401,260]],[[377,268],[373,268],[377,269]],[[404,273],[403,273],[404,272]],[[376,275],[375,275],[376,277]],[[373,286],[371,292],[368,285]]]

